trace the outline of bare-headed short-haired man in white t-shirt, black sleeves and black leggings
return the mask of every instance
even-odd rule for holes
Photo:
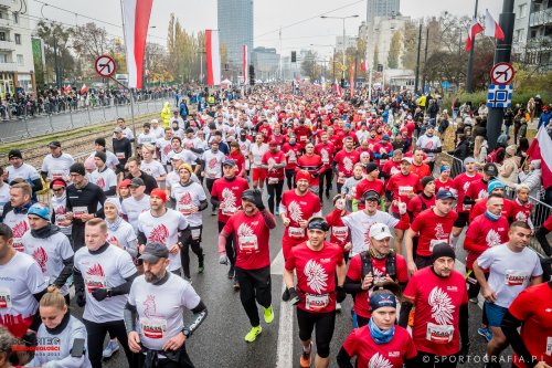
[[[86,222],[85,243],[86,246],[75,253],[73,271],[76,304],[85,307],[83,323],[88,333],[87,351],[92,367],[102,367],[107,332],[119,340],[129,366],[132,366],[123,308],[137,276],[136,266],[130,254],[107,242],[107,224],[102,219]]]

